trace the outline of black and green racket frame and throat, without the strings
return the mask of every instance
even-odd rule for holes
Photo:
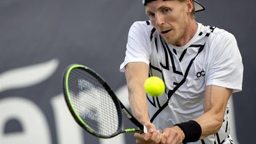
[[[121,121],[121,125],[118,126],[118,130],[117,132],[115,132],[114,134],[111,134],[111,136],[104,136],[102,134],[98,134],[97,132],[95,132],[95,130],[93,128],[91,128],[90,126],[88,126],[86,124],[86,122],[79,116],[79,114],[76,113],[74,106],[72,105],[72,102],[70,100],[70,94],[69,94],[69,89],[68,89],[68,79],[70,76],[70,72],[74,69],[81,69],[81,70],[85,70],[86,72],[88,72],[89,74],[91,74],[91,76],[94,76],[94,78],[96,78],[98,80],[98,82],[102,85],[102,87],[104,87],[104,89],[109,93],[109,96],[111,96],[113,102],[115,103],[115,106],[117,108],[117,115],[119,116],[119,121]],[[145,126],[143,126],[124,106],[124,104],[122,104],[122,102],[117,98],[117,96],[115,95],[115,93],[112,91],[111,87],[109,87],[109,85],[106,83],[106,81],[104,81],[104,79],[97,74],[94,70],[91,70],[90,68],[80,65],[80,64],[72,64],[70,66],[68,66],[68,68],[66,68],[66,70],[63,72],[63,76],[62,76],[62,86],[63,86],[63,95],[66,101],[66,104],[68,106],[68,109],[70,110],[70,113],[72,114],[72,116],[74,117],[75,121],[77,124],[79,124],[79,126],[81,126],[83,129],[87,130],[87,132],[93,134],[94,136],[100,137],[100,138],[104,138],[104,139],[108,139],[111,138],[113,136],[116,136],[117,134],[121,134],[124,132],[137,132],[137,133],[147,133],[147,128],[145,128]],[[138,128],[126,128],[126,129],[122,129],[122,113],[124,115],[126,115],[126,117],[128,119],[130,119],[130,121],[132,121],[132,123],[137,126]]]

